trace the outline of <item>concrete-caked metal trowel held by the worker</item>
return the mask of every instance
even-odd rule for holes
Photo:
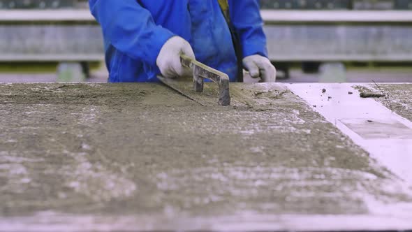
[[[212,82],[215,82],[219,87],[219,104],[221,106],[230,105],[229,77],[227,74],[222,73],[221,71],[217,71],[216,69],[202,64],[199,61],[196,61],[195,59],[192,59],[191,57],[188,57],[186,55],[180,55],[180,62],[182,63],[182,66],[190,68],[192,71],[194,92],[203,92],[203,82],[204,79],[207,78],[209,80],[212,80]],[[190,96],[190,93],[187,93],[187,91],[182,88],[182,78],[164,78],[163,76],[158,76],[158,78],[159,80],[161,80],[161,82],[163,82],[163,84],[168,85],[168,87],[172,89],[175,89],[175,91],[183,94],[189,99],[196,101]]]

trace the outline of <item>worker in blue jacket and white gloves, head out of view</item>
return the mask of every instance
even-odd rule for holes
[[[242,79],[243,68],[261,82],[276,79],[258,0],[89,0],[89,6],[103,29],[109,82],[189,75],[181,53],[228,74],[230,81]]]

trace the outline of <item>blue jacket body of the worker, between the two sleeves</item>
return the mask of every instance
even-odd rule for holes
[[[137,3],[152,13],[156,24],[189,41],[198,61],[227,73],[231,80],[235,80],[235,51],[217,0],[138,0]],[[110,82],[158,81],[156,67],[131,59],[110,45],[106,61]]]

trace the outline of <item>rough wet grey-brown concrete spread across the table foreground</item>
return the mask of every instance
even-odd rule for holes
[[[412,228],[410,185],[307,102],[230,91],[0,85],[0,231]]]

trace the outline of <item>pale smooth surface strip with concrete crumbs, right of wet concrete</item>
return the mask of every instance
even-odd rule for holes
[[[361,98],[359,92],[389,94],[381,89],[381,84],[313,83],[287,86],[369,152],[372,158],[384,164],[398,177],[412,183],[412,122],[402,117],[407,115],[407,109],[404,111],[405,109],[398,107],[397,111],[403,113],[399,115],[379,102],[384,99],[391,107],[392,103],[409,97],[406,89],[411,89],[412,85],[391,84],[391,89],[403,91],[398,91],[392,99],[382,98],[378,101]]]

